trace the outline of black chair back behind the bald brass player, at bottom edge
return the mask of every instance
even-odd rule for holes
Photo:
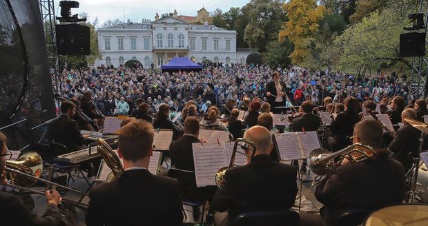
[[[240,214],[232,221],[233,226],[276,226],[276,225],[298,225],[300,216],[298,212],[291,209],[271,212],[247,212]]]

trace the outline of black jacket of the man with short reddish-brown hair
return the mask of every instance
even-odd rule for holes
[[[86,225],[182,225],[178,182],[148,170],[125,171],[89,192]]]

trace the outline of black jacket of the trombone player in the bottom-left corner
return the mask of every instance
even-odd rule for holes
[[[43,216],[31,214],[21,198],[7,192],[0,192],[1,225],[32,226],[59,225],[61,213],[54,204],[49,204]]]

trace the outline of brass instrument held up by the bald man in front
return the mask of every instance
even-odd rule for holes
[[[237,150],[237,146],[240,146],[243,150],[248,150],[251,152],[251,155],[246,154],[244,152],[240,152]],[[226,175],[226,170],[230,169],[231,167],[235,166],[235,156],[236,153],[240,153],[243,154],[244,156],[253,158],[254,154],[255,154],[255,145],[252,141],[247,140],[246,138],[237,138],[234,145],[233,145],[233,151],[232,151],[232,156],[231,156],[231,161],[229,162],[228,166],[225,167],[221,167],[220,170],[217,170],[217,172],[215,173],[215,184],[218,187],[221,187],[222,184],[224,183],[224,175]]]

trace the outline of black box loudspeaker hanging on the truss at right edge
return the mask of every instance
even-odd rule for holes
[[[425,32],[411,32],[400,34],[400,56],[425,55]]]

